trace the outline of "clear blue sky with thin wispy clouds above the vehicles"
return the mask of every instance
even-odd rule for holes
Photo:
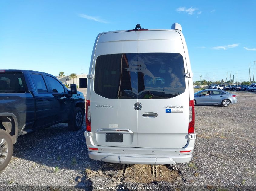
[[[0,68],[88,73],[98,33],[182,26],[194,80],[248,81],[256,1],[0,1]],[[253,78],[253,77],[252,77]],[[256,72],[254,75],[254,81]]]

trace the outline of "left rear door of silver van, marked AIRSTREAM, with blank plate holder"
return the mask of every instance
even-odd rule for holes
[[[91,74],[90,114],[95,145],[138,147],[138,31],[98,38]],[[130,107],[131,106],[131,107]]]

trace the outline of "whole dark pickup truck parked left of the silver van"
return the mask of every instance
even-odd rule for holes
[[[68,90],[53,75],[30,70],[0,70],[0,172],[11,160],[17,137],[68,123],[79,130],[85,98],[76,85]]]

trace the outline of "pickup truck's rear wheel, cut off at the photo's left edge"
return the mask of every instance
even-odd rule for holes
[[[2,172],[11,161],[13,153],[13,143],[11,135],[0,129],[0,172]]]

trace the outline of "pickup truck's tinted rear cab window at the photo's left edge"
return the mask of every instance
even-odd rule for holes
[[[0,93],[25,93],[25,80],[22,73],[0,74]]]

